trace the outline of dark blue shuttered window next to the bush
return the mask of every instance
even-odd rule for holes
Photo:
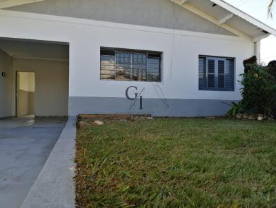
[[[199,90],[234,90],[234,59],[199,56]]]

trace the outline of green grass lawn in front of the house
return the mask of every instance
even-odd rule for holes
[[[276,207],[276,123],[155,118],[83,127],[78,207]]]

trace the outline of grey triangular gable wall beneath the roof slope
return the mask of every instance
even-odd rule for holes
[[[168,0],[47,0],[6,9],[236,36],[219,25]],[[175,14],[175,18],[173,18],[173,14]]]

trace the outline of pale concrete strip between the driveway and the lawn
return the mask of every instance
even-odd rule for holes
[[[68,118],[66,127],[21,208],[75,207],[75,121],[74,116]]]

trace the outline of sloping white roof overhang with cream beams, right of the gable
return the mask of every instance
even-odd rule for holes
[[[257,42],[276,30],[222,0],[170,0],[221,28]]]

